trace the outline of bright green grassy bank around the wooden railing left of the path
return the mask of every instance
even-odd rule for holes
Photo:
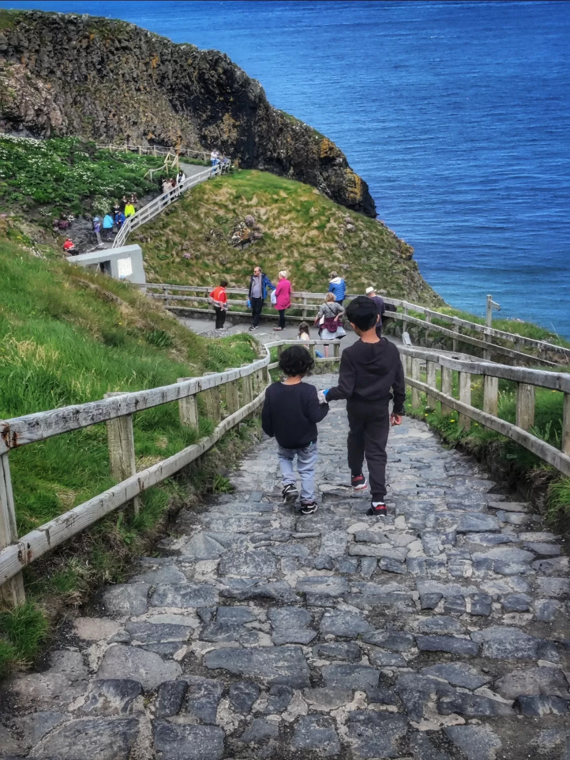
[[[69,266],[47,250],[43,255],[0,238],[0,419],[93,401],[106,391],[168,385],[255,358],[245,335],[206,340],[128,283]],[[177,404],[138,413],[138,469],[176,453],[211,427],[203,418],[199,431],[182,428]],[[47,619],[62,603],[80,603],[98,582],[120,580],[129,557],[144,550],[169,505],[188,499],[188,485],[195,492],[198,485],[227,489],[224,466],[240,441],[237,432],[225,436],[211,455],[215,466],[201,462],[199,477],[194,473],[185,488],[172,480],[149,489],[138,516],[116,513],[81,534],[73,556],[56,552],[30,565],[30,605],[0,617],[0,670],[33,658]],[[10,465],[19,535],[113,483],[104,425],[17,448]]]

